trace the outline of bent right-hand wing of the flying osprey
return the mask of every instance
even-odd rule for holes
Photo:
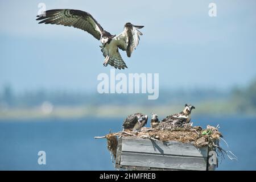
[[[144,26],[135,26],[131,23],[126,23],[123,32],[113,38],[117,42],[118,48],[126,51],[127,56],[131,57],[131,53],[139,44],[139,35],[143,35],[138,28]]]

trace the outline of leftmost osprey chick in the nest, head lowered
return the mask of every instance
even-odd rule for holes
[[[123,129],[132,129],[139,131],[147,124],[147,115],[142,113],[131,114],[123,121]]]

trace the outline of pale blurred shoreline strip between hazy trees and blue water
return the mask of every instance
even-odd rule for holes
[[[228,108],[228,109],[227,109]],[[0,110],[0,121],[10,119],[44,119],[44,118],[125,118],[132,113],[141,112],[150,115],[157,113],[160,118],[177,113],[182,106],[56,106],[51,111],[41,107],[16,108]],[[238,113],[236,108],[226,107],[225,104],[197,104],[192,115],[210,115],[213,117],[256,117],[253,111]]]

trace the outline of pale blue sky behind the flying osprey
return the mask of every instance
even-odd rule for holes
[[[100,42],[72,27],[38,24],[47,9],[88,11],[119,34],[126,22],[144,25],[129,69],[159,73],[160,88],[245,86],[256,77],[256,1],[3,1],[0,0],[0,88],[95,91],[103,67]],[[217,5],[210,18],[208,5]]]

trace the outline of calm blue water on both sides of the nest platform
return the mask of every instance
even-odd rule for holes
[[[256,170],[256,118],[193,118],[194,125],[220,124],[238,161],[223,159],[218,170]],[[196,122],[195,122],[196,121]],[[105,139],[121,130],[122,119],[38,119],[0,121],[1,170],[114,170]],[[225,146],[223,142],[222,146]],[[226,147],[225,147],[226,148]],[[38,151],[46,151],[46,165]]]

